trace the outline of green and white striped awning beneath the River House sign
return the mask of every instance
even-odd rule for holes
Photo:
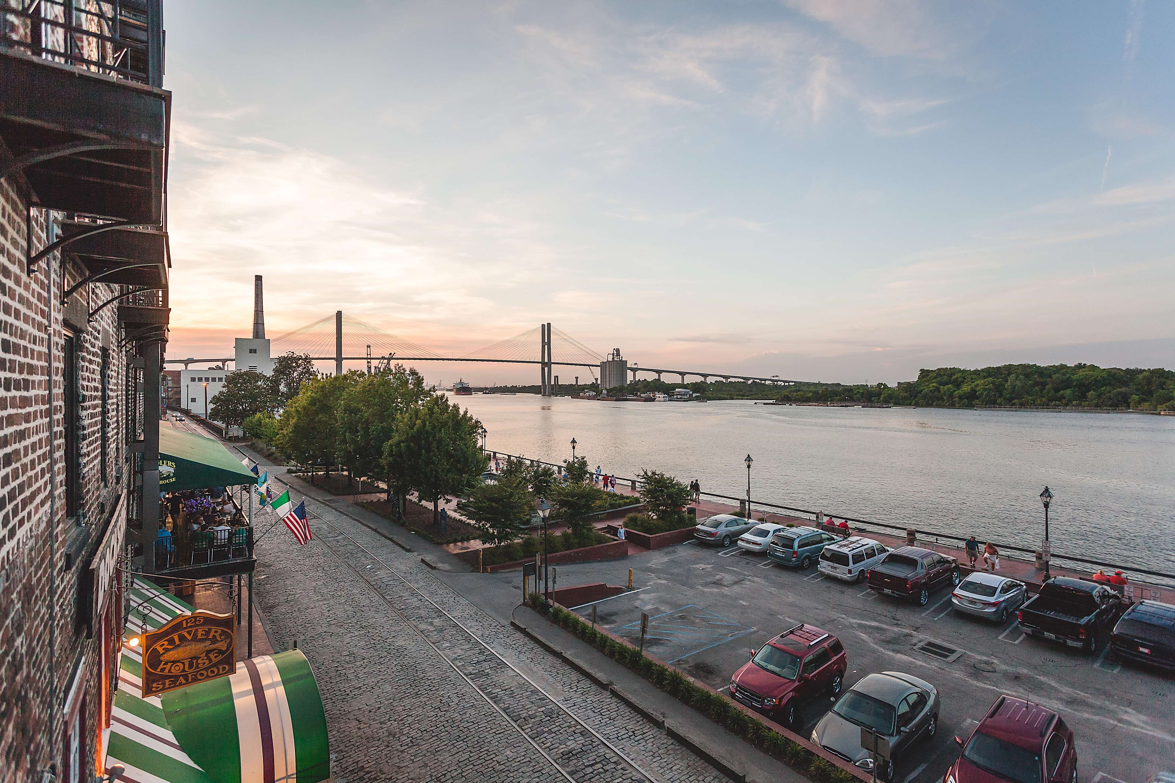
[[[123,639],[192,607],[139,579]],[[330,777],[322,697],[298,650],[261,655],[237,671],[142,696],[142,656],[122,646],[106,769],[129,783],[320,783]]]

